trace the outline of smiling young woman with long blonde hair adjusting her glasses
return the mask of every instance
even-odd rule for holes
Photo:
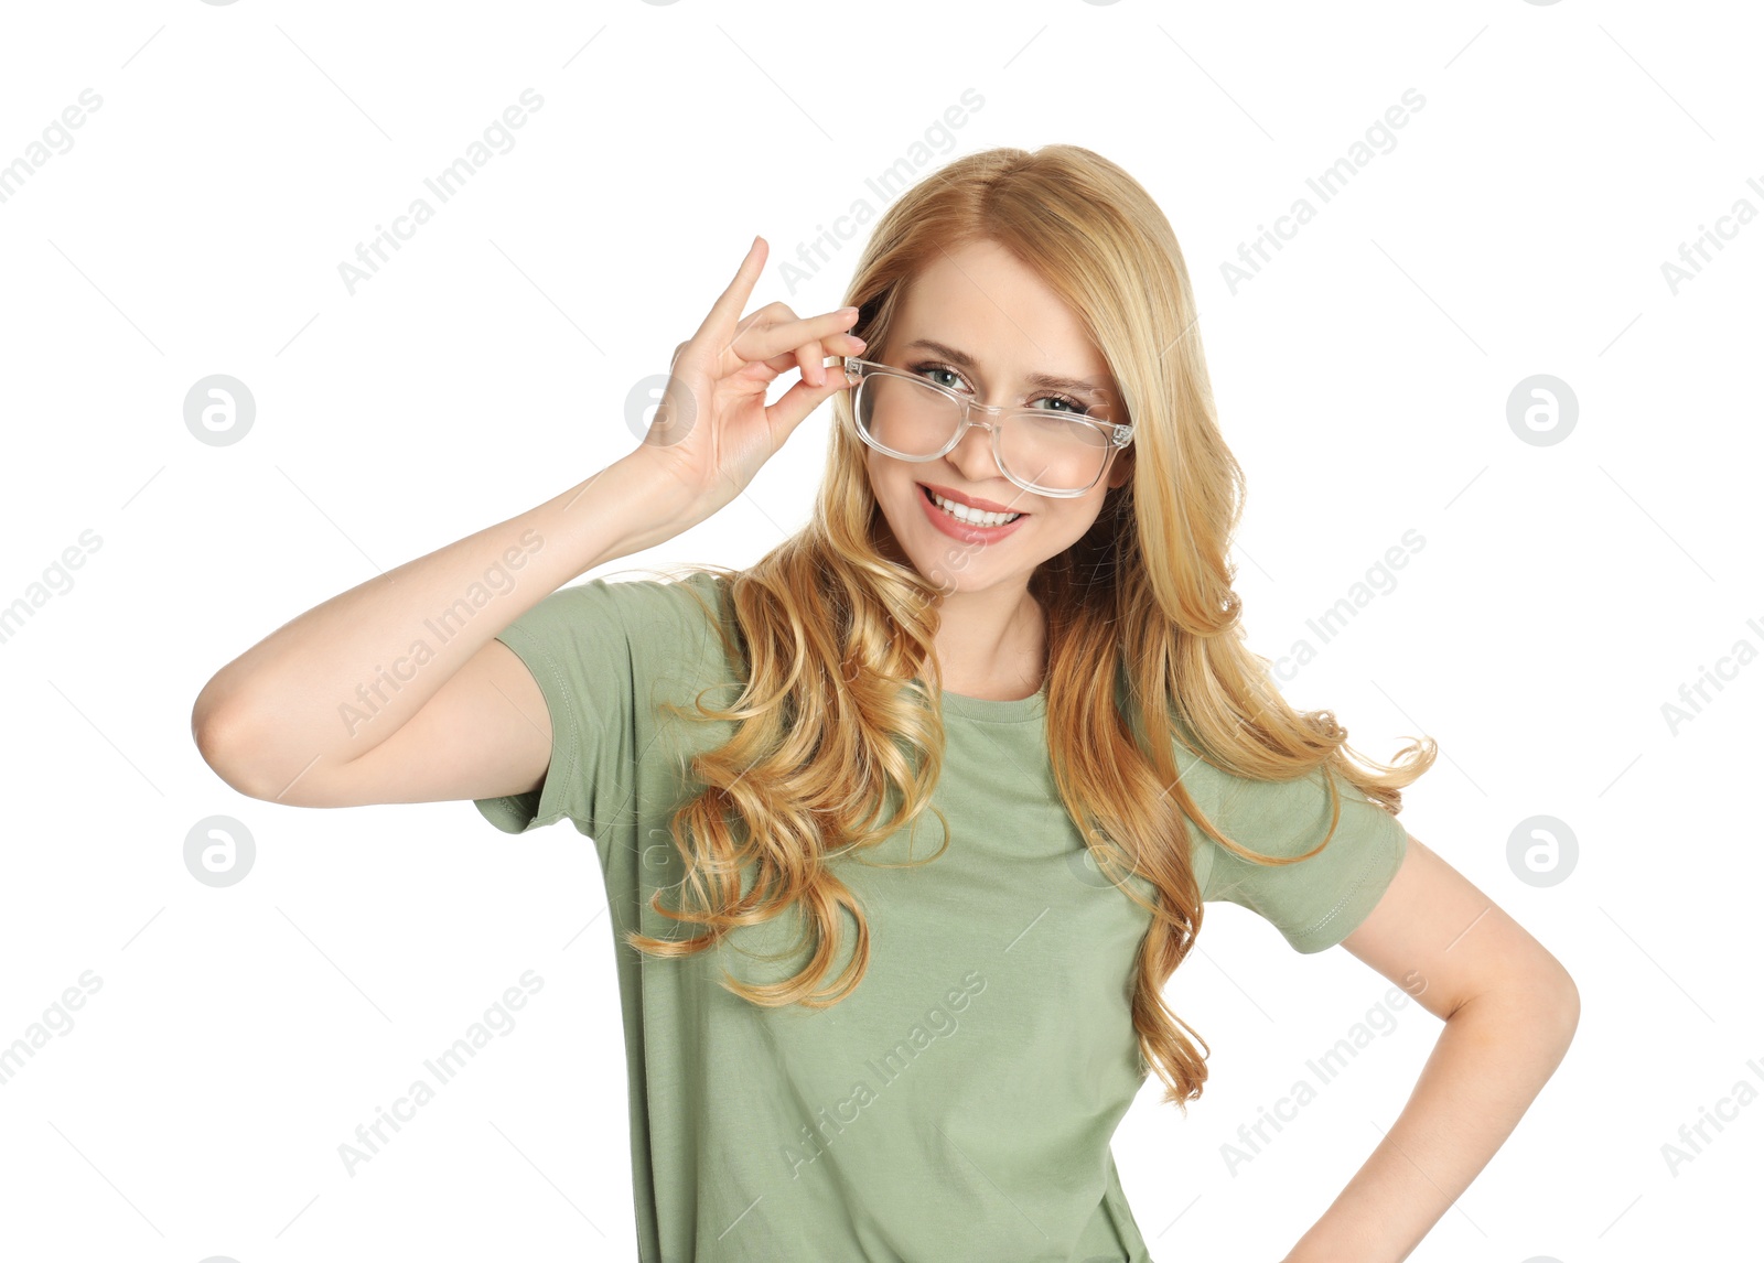
[[[1168,220],[1088,150],[1002,148],[882,215],[852,307],[743,318],[764,263],[635,452],[254,646],[196,702],[203,755],[279,803],[593,838],[644,1259],[1148,1259],[1110,1136],[1150,1072],[1201,1095],[1162,988],[1208,900],[1445,1018],[1288,1256],[1406,1258],[1579,1002],[1397,822],[1432,743],[1367,771],[1242,642],[1242,473]],[[759,563],[564,587],[709,519],[827,399],[813,519]]]

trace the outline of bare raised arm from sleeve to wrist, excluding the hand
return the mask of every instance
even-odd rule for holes
[[[332,596],[215,672],[191,716],[196,746],[240,794],[295,806],[533,788],[549,716],[494,637],[584,572],[674,534],[656,526],[669,485],[624,457]]]

